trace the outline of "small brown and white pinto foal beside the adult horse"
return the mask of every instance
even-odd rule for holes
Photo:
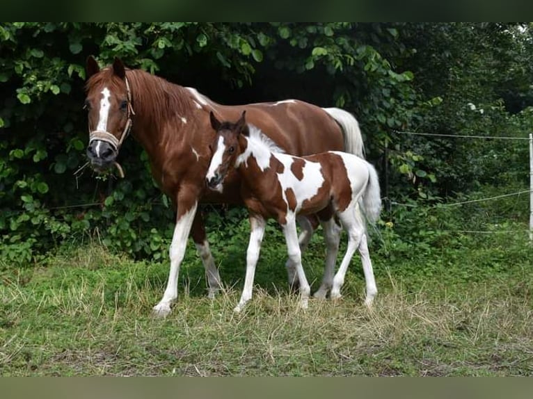
[[[241,177],[241,195],[250,214],[250,243],[246,254],[244,290],[235,311],[252,298],[255,265],[264,235],[265,220],[274,218],[283,227],[289,262],[296,269],[301,293],[301,307],[308,307],[310,286],[301,263],[301,249],[296,231],[296,216],[316,213],[328,246],[326,268],[317,298],[340,297],[349,263],[356,249],[363,261],[367,306],[377,293],[370,261],[365,221],[358,207],[362,205],[369,222],[376,222],[381,211],[379,181],[374,167],[358,156],[345,152],[324,152],[310,156],[284,154],[260,129],[246,124],[246,111],[236,123],[220,122],[210,113],[216,136],[207,170],[207,186],[223,190],[225,177],[237,170]],[[362,202],[360,204],[360,199]],[[340,227],[349,241],[341,266],[333,277]]]

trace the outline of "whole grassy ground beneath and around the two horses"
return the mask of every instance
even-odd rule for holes
[[[374,243],[372,311],[363,305],[358,258],[341,300],[299,309],[280,236],[265,238],[254,297],[241,314],[232,309],[246,237],[229,252],[214,245],[228,284],[215,300],[205,298],[189,243],[165,319],[150,311],[166,263],[132,261],[97,243],[31,267],[3,263],[1,375],[533,375],[533,250],[522,236],[433,248],[431,256],[390,243],[385,255]],[[304,257],[314,289],[323,252],[314,237]]]

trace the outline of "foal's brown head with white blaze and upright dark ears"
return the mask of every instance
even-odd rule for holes
[[[246,111],[243,111],[239,120],[235,123],[220,122],[216,119],[213,111],[209,114],[211,126],[216,131],[216,136],[211,147],[212,158],[209,169],[205,175],[207,186],[212,190],[222,192],[222,182],[228,172],[234,168],[237,156],[241,154],[239,135],[248,136],[248,124],[246,124]]]

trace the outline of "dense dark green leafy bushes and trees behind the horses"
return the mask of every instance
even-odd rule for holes
[[[530,104],[526,83],[533,63],[527,61],[533,52],[526,28],[4,23],[0,257],[27,265],[56,245],[89,237],[133,257],[166,257],[173,211],[154,186],[148,160],[134,140],[127,140],[120,153],[125,181],[97,178],[83,168],[87,132],[81,106],[89,54],[101,65],[118,56],[129,67],[196,87],[226,104],[292,97],[346,108],[360,121],[373,163],[383,165],[388,146],[388,197],[422,204],[487,186],[521,189],[525,184],[527,148],[522,142],[455,141],[392,131],[523,136],[532,123],[531,111],[517,105]],[[221,220],[210,220],[208,230],[214,231],[214,241],[231,243],[228,226],[245,230],[248,222],[242,211],[223,214],[230,222],[218,228]]]

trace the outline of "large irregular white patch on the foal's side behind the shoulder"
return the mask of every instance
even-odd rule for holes
[[[303,178],[299,180],[294,173],[292,173],[291,165],[294,158],[287,154],[274,154],[278,161],[283,163],[285,167],[283,173],[278,173],[278,180],[280,181],[283,190],[283,199],[287,202],[285,190],[292,188],[294,196],[296,197],[296,213],[301,209],[305,199],[311,199],[317,195],[319,188],[324,184],[324,176],[322,176],[322,168],[317,162],[305,161],[303,165]],[[288,204],[288,202],[287,202]]]

